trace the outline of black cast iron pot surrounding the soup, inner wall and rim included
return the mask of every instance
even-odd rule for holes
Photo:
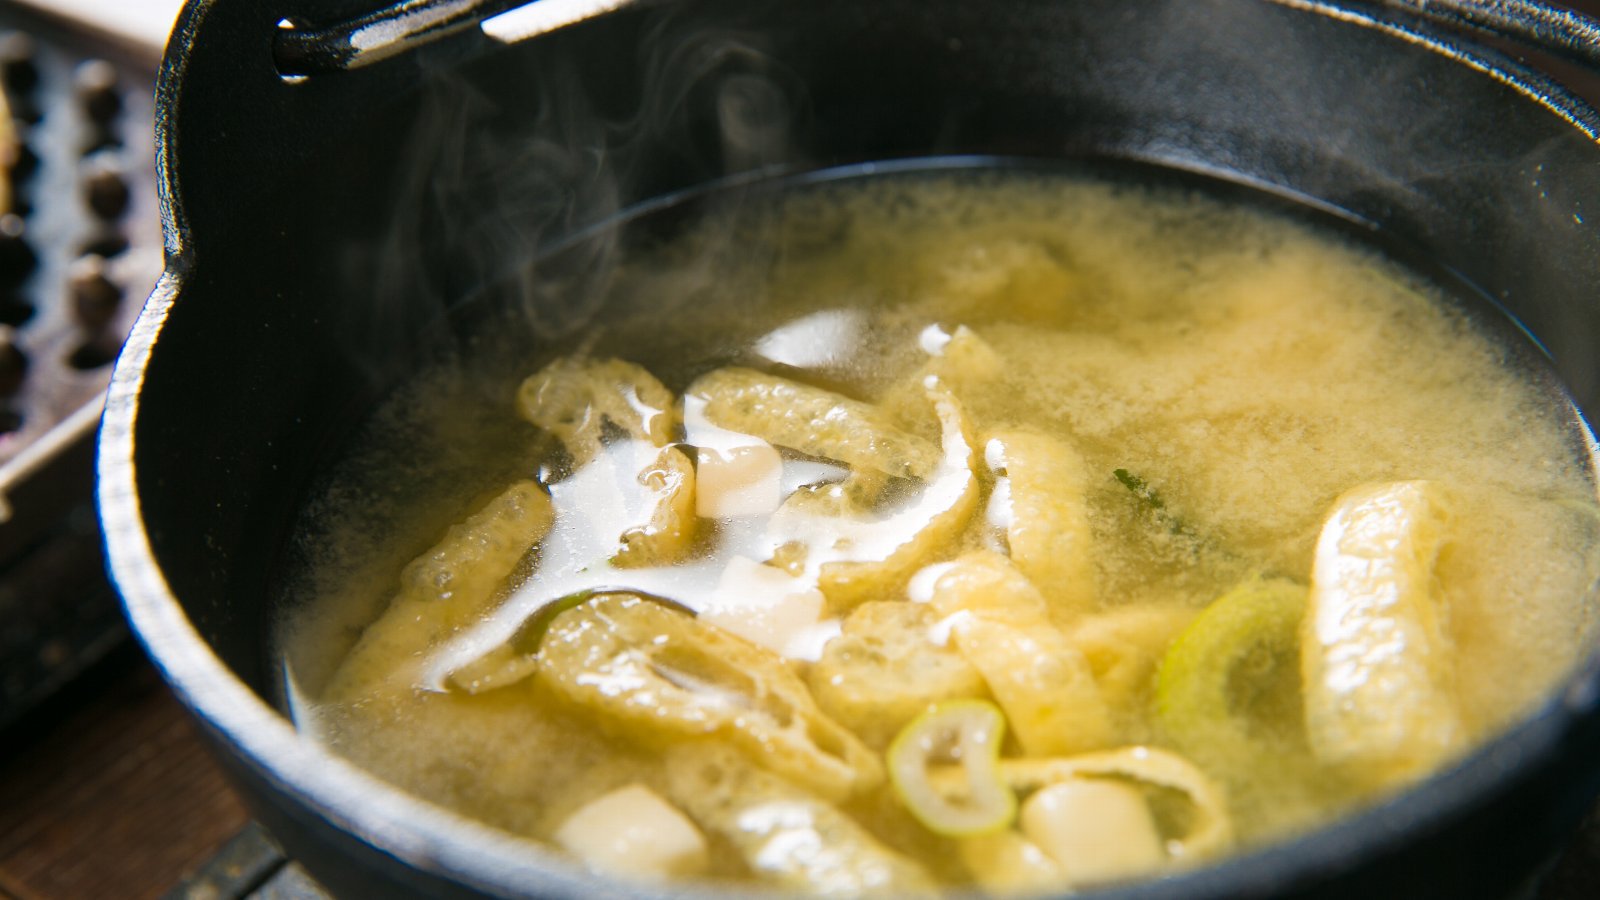
[[[477,21],[504,0],[198,0],[162,72],[168,264],[101,436],[112,573],[251,810],[336,892],[637,892],[296,737],[267,636],[318,466],[424,325],[618,208],[936,155],[1202,173],[1334,211],[1475,285],[1600,408],[1600,117],[1490,48],[1592,59],[1582,19],[1517,2],[602,5],[616,8],[502,45]],[[723,102],[738,78],[765,101]],[[1590,655],[1418,790],[1115,894],[1504,895],[1597,791]]]

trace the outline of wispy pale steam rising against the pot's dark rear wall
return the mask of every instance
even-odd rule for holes
[[[416,356],[454,352],[445,322],[462,304],[520,312],[528,343],[582,330],[613,287],[629,240],[613,226],[630,203],[803,162],[805,88],[760,38],[666,19],[638,45],[637,66],[525,45],[430,75],[355,330],[376,384]],[[514,70],[528,90],[480,88],[491,83],[483,70]],[[416,352],[395,352],[408,346]]]

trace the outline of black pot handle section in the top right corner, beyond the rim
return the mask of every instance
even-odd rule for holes
[[[1382,5],[1600,69],[1600,24],[1570,10],[1531,0],[1382,0]]]

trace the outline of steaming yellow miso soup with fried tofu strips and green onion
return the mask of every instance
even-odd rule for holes
[[[1427,778],[1592,641],[1587,428],[1322,226],[968,171],[667,231],[336,466],[306,733],[622,879],[1080,890]]]

